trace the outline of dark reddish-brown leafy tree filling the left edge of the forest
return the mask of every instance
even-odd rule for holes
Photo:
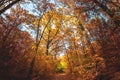
[[[28,32],[20,30],[21,24],[26,19],[26,10],[20,6],[16,9],[11,9],[10,14],[0,17],[0,79],[2,80],[25,80],[28,58],[31,56],[30,51],[34,43]]]

